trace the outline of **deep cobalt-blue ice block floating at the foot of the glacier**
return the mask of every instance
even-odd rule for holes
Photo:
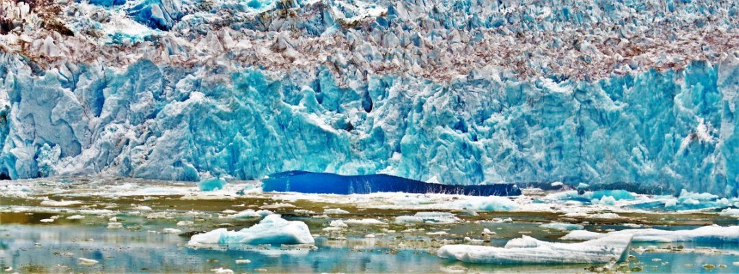
[[[440,185],[386,174],[344,176],[308,171],[285,171],[262,180],[263,191],[301,193],[452,193],[472,196],[514,196],[521,190],[512,184]]]

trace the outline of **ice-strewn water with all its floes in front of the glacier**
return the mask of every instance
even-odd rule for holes
[[[151,272],[739,270],[739,199],[709,193],[556,185],[563,189],[522,188],[514,196],[334,194],[206,181],[219,188],[119,177],[0,181],[0,242],[5,250],[24,250],[0,253],[0,264],[34,267],[33,256],[50,256],[61,264],[47,270],[111,272],[140,270],[123,261],[132,259]],[[136,240],[120,249],[109,237]],[[153,258],[136,254],[154,246],[160,254]],[[168,264],[182,256],[190,262]],[[370,268],[347,264],[356,259]]]

